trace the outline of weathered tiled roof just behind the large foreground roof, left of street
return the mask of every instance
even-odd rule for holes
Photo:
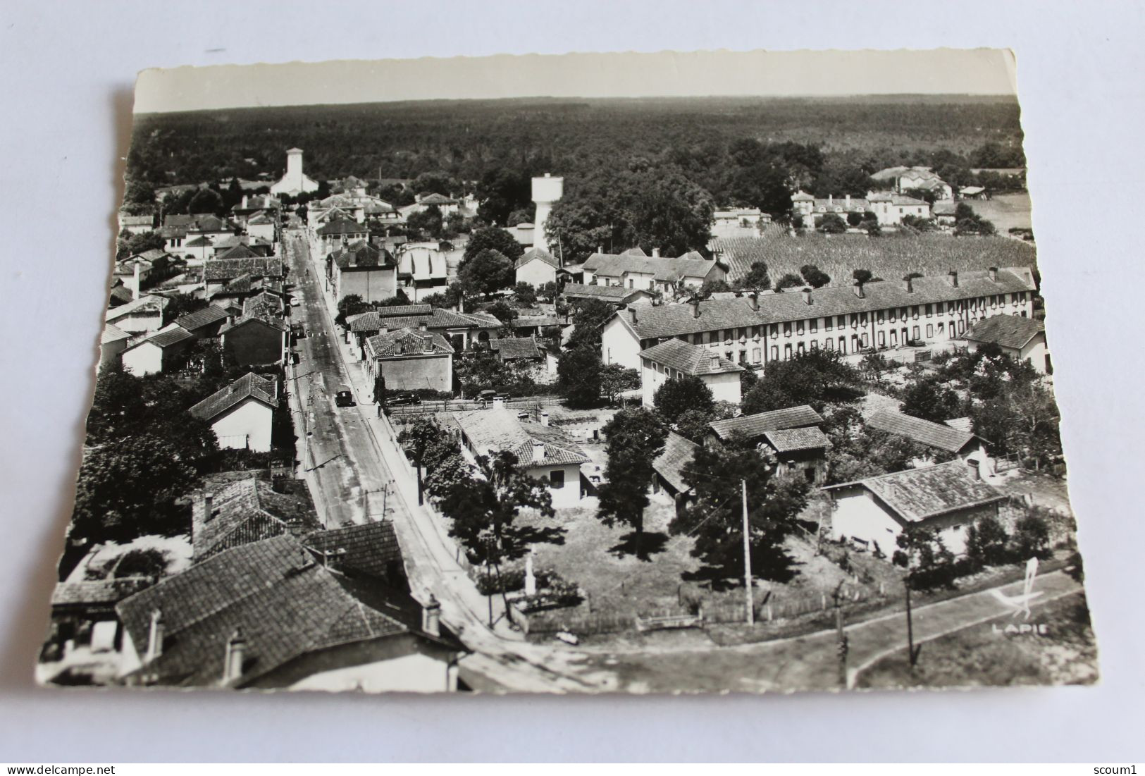
[[[301,536],[319,526],[309,498],[279,493],[269,482],[251,475],[212,493],[211,514],[202,498],[191,508],[191,545],[195,562],[239,545],[292,533]]]

